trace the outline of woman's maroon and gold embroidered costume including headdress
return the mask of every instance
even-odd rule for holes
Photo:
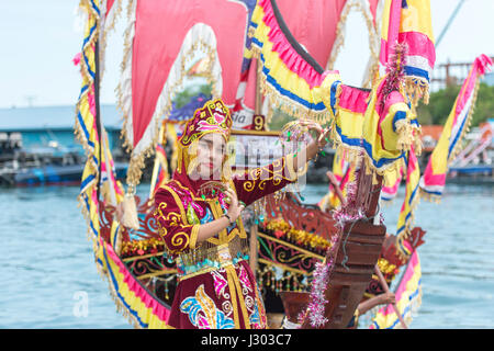
[[[209,101],[188,121],[179,139],[179,160],[172,179],[155,194],[155,217],[168,254],[179,271],[168,325],[182,329],[266,328],[266,312],[255,275],[248,264],[248,241],[240,217],[226,229],[198,242],[200,225],[222,217],[228,208],[223,192],[200,194],[207,180],[188,176],[194,165],[193,144],[207,133],[228,140],[232,118],[221,100]],[[245,205],[296,180],[293,156],[269,166],[229,176],[222,182]]]

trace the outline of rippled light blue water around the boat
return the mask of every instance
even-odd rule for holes
[[[305,201],[326,189],[308,185]],[[383,207],[390,233],[403,192]],[[97,272],[77,194],[77,186],[0,190],[0,328],[131,328]],[[493,210],[490,185],[448,184],[440,204],[420,202],[423,302],[411,328],[494,328]]]

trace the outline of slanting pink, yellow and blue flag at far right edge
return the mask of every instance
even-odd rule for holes
[[[491,58],[485,55],[475,58],[461,87],[442,134],[429,157],[424,176],[420,178],[422,195],[428,200],[439,201],[442,195],[448,165],[460,151],[462,138],[470,126],[480,78],[492,65]]]

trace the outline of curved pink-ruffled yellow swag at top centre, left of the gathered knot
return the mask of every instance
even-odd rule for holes
[[[325,71],[296,42],[270,0],[257,2],[249,35],[254,56],[262,66],[261,89],[271,105],[296,117],[329,121],[332,111],[323,102],[322,84],[325,79],[329,86],[339,81],[339,75]]]

